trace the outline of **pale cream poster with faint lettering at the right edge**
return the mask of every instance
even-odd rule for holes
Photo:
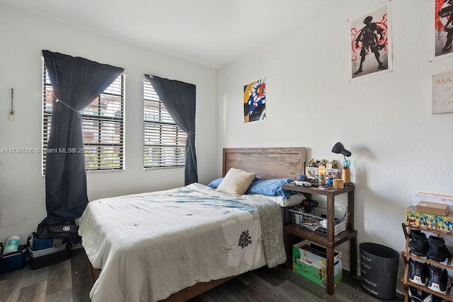
[[[432,76],[432,114],[453,112],[453,72]]]

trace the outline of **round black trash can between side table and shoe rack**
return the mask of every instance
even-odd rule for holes
[[[377,243],[360,243],[360,276],[369,294],[394,299],[398,278],[399,254]]]

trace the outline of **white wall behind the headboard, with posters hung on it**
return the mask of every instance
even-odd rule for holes
[[[219,149],[306,146],[307,160],[342,162],[331,149],[343,142],[352,151],[358,243],[401,252],[413,193],[453,194],[453,113],[431,114],[431,76],[453,71],[453,57],[430,62],[430,1],[393,0],[394,70],[349,81],[347,20],[383,3],[344,1],[220,69]],[[243,86],[263,78],[267,120],[244,124]]]

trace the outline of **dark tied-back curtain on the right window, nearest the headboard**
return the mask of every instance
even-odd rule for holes
[[[187,134],[185,141],[185,185],[198,182],[195,152],[195,92],[196,86],[175,80],[144,75],[153,86],[168,113]]]

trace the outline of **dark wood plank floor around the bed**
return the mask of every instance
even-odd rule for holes
[[[0,274],[0,301],[90,301],[91,279],[83,249],[71,250],[71,259],[31,270]],[[214,301],[403,301],[379,300],[363,291],[360,279],[343,271],[343,282],[333,296],[289,269],[256,269],[193,298],[191,302]]]

